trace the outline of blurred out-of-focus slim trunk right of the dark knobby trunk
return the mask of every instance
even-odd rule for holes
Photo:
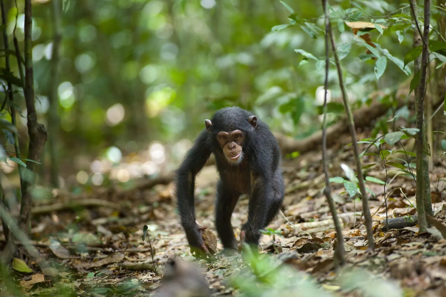
[[[58,132],[59,132],[59,118],[58,118],[58,62],[59,62],[59,48],[62,39],[60,33],[60,2],[59,0],[52,0],[53,7],[53,52],[51,54],[51,73],[50,73],[50,111],[48,117],[48,145],[50,152],[50,179],[53,187],[59,187],[59,151],[58,151]]]

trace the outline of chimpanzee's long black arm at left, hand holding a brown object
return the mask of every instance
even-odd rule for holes
[[[175,194],[181,224],[186,233],[190,250],[192,253],[196,252],[197,256],[205,256],[209,252],[202,239],[201,233],[203,228],[195,221],[195,176],[202,169],[210,155],[209,132],[203,130],[187,152],[175,178]]]

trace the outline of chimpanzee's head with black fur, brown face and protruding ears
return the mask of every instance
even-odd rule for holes
[[[206,129],[211,134],[211,142],[223,150],[230,164],[239,164],[244,157],[244,146],[249,135],[257,127],[257,118],[240,107],[227,107],[218,110],[211,120],[205,120]]]

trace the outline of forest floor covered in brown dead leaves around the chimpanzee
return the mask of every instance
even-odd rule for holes
[[[411,203],[415,204],[415,184],[403,175],[394,179],[390,175],[385,192],[383,185],[367,183],[376,195],[370,200],[375,252],[367,249],[360,200],[349,198],[342,184],[333,184],[343,225],[347,267],[350,271],[364,269],[361,271],[366,273],[356,273],[357,277],[350,279],[353,284],[341,284],[342,280],[336,278],[339,273],[335,273],[334,226],[322,194],[325,183],[320,156],[321,152],[315,150],[283,161],[286,194],[282,210],[286,220],[279,214],[270,224],[269,234],[262,237],[260,253],[269,253],[281,264],[311,275],[318,287],[330,296],[397,296],[392,295],[392,290],[404,292],[404,296],[446,296],[446,239],[441,232],[430,229],[430,233],[419,234],[417,226],[388,232],[381,230],[386,217],[384,193],[389,195],[393,189],[401,188],[408,198],[399,189],[389,195],[389,218],[415,213],[410,207]],[[351,146],[332,147],[329,156],[331,177],[343,176],[341,163],[355,168]],[[364,157],[363,165],[372,163],[372,158]],[[446,160],[440,159],[430,176],[434,212],[443,225],[446,223],[446,182],[441,178],[446,175],[445,168]],[[381,180],[386,178],[385,171],[380,168],[369,171],[368,175]],[[198,223],[208,226],[215,234],[216,180],[215,167],[206,166],[197,178],[195,191]],[[63,191],[55,192],[54,199],[47,204],[60,203],[68,209],[35,213],[32,238],[41,255],[56,269],[44,275],[30,262],[32,273],[15,272],[14,278],[22,292],[27,296],[59,292],[60,296],[58,283],[65,284],[79,296],[153,294],[153,289],[161,284],[163,267],[169,258],[194,260],[178,224],[171,188],[171,183],[150,189],[95,187],[74,198]],[[102,204],[70,209],[73,200],[83,199],[100,199]],[[248,198],[242,197],[232,216],[237,238],[246,220],[247,205]],[[141,240],[144,225],[148,225],[155,267],[148,240]],[[445,230],[442,232],[445,234]],[[220,244],[218,248],[222,250]],[[195,261],[204,269],[214,296],[240,293],[240,288],[228,281],[231,275],[237,275],[247,266],[240,256]],[[400,286],[401,291],[398,291]],[[4,295],[0,293],[0,296]]]

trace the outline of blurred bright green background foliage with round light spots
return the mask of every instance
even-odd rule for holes
[[[276,0],[64,0],[58,65],[62,178],[74,180],[77,175],[78,182],[87,183],[96,174],[93,183],[102,184],[103,172],[115,168],[123,156],[130,156],[127,165],[112,174],[123,182],[134,175],[171,170],[203,128],[204,119],[224,106],[253,110],[274,131],[296,138],[318,130],[323,67],[302,61],[304,56],[295,49],[323,58],[322,8],[318,1],[287,3],[297,18],[310,24],[306,29],[273,28],[288,24],[290,14]],[[51,1],[33,4],[36,104],[47,126],[54,22]],[[341,56],[345,52],[343,69],[356,108],[369,104],[373,91],[391,94],[409,79],[389,61],[377,80],[375,61],[364,57],[365,48],[344,25],[358,20],[385,23],[392,14],[409,14],[406,1],[331,4],[337,11],[331,17],[340,20],[333,25]],[[16,35],[22,44],[23,3],[17,5]],[[6,6],[12,38],[17,8],[14,1],[6,1]],[[432,19],[439,13],[434,9]],[[370,35],[401,60],[412,46],[410,28],[398,33],[384,30],[383,35],[373,30]],[[18,76],[15,63],[12,59]],[[335,101],[340,91],[334,67],[329,80]],[[16,105],[25,110],[21,96],[16,95]],[[21,141],[27,139],[25,122],[20,117]],[[132,154],[139,154],[138,159]]]

